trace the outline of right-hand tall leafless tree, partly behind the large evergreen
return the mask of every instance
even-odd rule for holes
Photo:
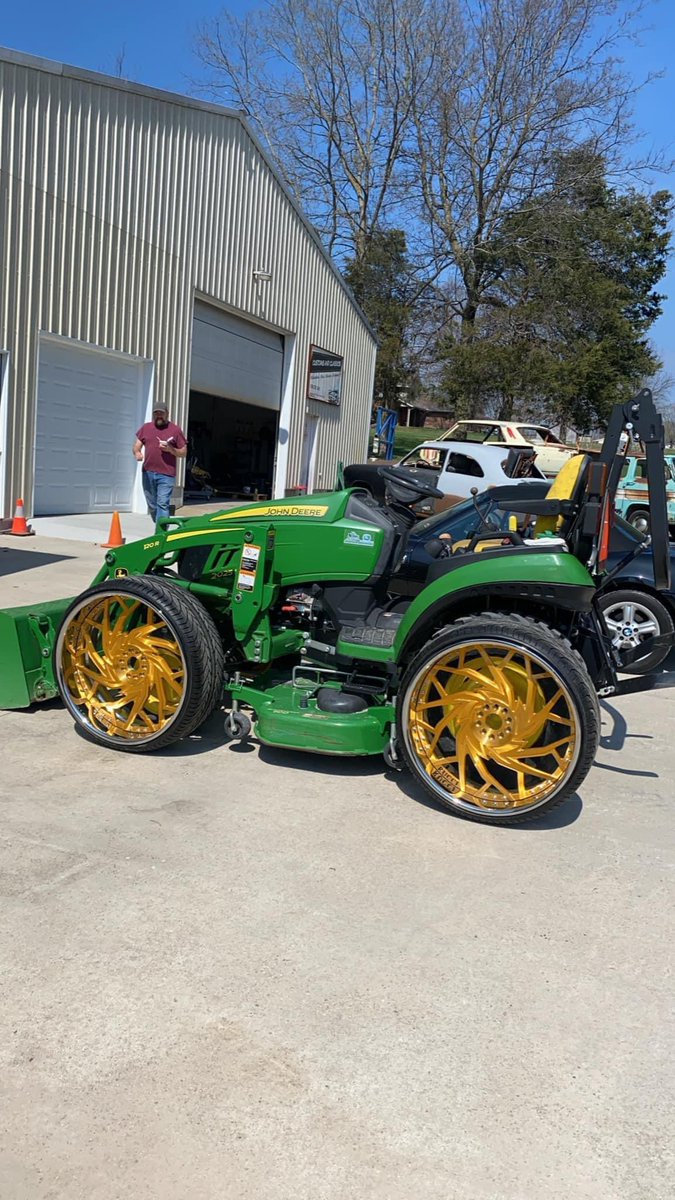
[[[458,336],[471,338],[504,216],[551,190],[561,155],[584,149],[583,166],[625,154],[634,89],[616,54],[635,11],[617,0],[459,2],[434,97],[416,104],[414,166],[436,269],[453,280]]]

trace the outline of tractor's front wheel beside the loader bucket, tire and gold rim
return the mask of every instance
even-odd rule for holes
[[[222,695],[215,623],[193,595],[159,576],[84,592],[64,617],[54,658],[77,725],[113,750],[143,754],[189,737]]]

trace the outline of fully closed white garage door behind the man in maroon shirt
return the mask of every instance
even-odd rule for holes
[[[36,516],[126,512],[147,412],[149,364],[41,337],[35,442]]]

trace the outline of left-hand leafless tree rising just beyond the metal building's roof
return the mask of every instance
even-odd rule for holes
[[[268,0],[199,34],[207,90],[252,119],[328,248],[364,251],[386,224],[416,223],[411,151],[453,2]]]

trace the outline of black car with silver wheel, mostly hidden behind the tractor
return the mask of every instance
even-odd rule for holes
[[[533,500],[543,499],[550,487],[549,481],[532,480],[518,487],[519,499],[522,496]],[[464,541],[484,528],[488,521],[496,530],[508,530],[509,511],[507,502],[501,503],[504,491],[513,496],[513,488],[494,487],[482,492],[476,500],[464,500],[444,512],[428,517],[416,524],[407,539],[393,589],[399,595],[414,594],[426,578],[426,571],[434,562],[434,546],[426,547],[434,539],[449,535],[453,542]],[[519,524],[522,516],[518,517]],[[649,647],[657,635],[675,637],[675,590],[657,592],[653,581],[653,560],[649,547],[640,550],[645,539],[622,517],[615,517],[610,542],[609,569],[611,570],[632,551],[635,557],[628,562],[617,576],[608,584],[601,595],[601,604],[608,629],[614,635],[614,644],[621,650],[632,650],[638,646]],[[675,544],[670,544],[673,578],[675,580]],[[644,658],[631,664],[626,671],[632,674],[647,674],[661,666],[668,656],[670,646],[659,646],[646,653]]]

